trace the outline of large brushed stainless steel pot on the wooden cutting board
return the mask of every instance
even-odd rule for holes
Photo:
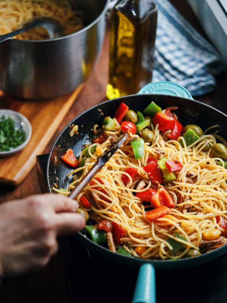
[[[0,89],[19,98],[72,92],[91,74],[103,45],[108,0],[76,0],[85,28],[57,39],[0,44]]]

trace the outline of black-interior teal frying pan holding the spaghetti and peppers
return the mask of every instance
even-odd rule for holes
[[[177,115],[179,122],[183,125],[196,124],[202,129],[209,126],[219,124],[219,135],[226,138],[225,132],[227,130],[227,116],[218,110],[205,105],[201,102],[192,101],[189,99],[169,96],[169,95],[131,95],[114,100],[106,101],[98,104],[81,115],[77,116],[71,121],[60,133],[51,149],[48,159],[47,180],[48,189],[56,183],[58,188],[67,188],[72,182],[72,176],[67,178],[66,175],[72,169],[61,161],[61,156],[68,148],[72,148],[74,154],[78,157],[81,153],[82,146],[90,143],[93,139],[94,124],[101,124],[103,117],[113,116],[115,110],[121,102],[124,102],[134,111],[142,112],[151,101],[154,101],[161,108],[167,106],[178,106]],[[100,111],[104,116],[100,114]],[[69,136],[69,125],[77,124],[79,126],[79,135],[74,137]],[[58,161],[55,162],[55,157]],[[130,267],[140,267],[137,285],[134,293],[133,303],[154,303],[155,302],[155,271],[154,268],[163,270],[182,269],[186,267],[196,266],[208,261],[211,261],[227,252],[227,245],[215,249],[209,253],[194,258],[184,258],[179,260],[144,260],[140,258],[129,258],[97,245],[88,238],[85,238],[81,232],[75,235],[75,238],[87,248],[96,252],[98,255],[108,258],[120,264],[129,265]]]

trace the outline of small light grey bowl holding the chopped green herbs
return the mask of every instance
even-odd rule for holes
[[[15,129],[18,129],[20,126],[22,126],[22,129],[25,131],[26,140],[17,148],[11,148],[9,151],[0,151],[0,157],[11,156],[21,151],[28,144],[32,134],[31,124],[24,115],[12,111],[11,109],[0,109],[0,117],[3,115],[5,118],[10,117],[15,121]]]

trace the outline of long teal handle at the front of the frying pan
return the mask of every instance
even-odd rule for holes
[[[152,264],[140,266],[132,303],[155,303],[155,269]]]

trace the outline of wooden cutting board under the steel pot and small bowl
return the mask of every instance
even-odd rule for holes
[[[48,100],[20,100],[0,91],[0,108],[20,112],[32,127],[31,139],[22,151],[0,158],[1,185],[16,186],[24,180],[35,165],[36,156],[44,151],[83,86],[70,95]]]

